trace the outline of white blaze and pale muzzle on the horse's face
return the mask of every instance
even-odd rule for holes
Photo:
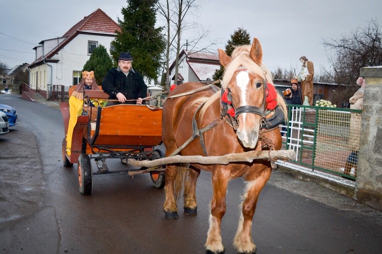
[[[254,106],[254,99],[251,98],[251,89],[254,88],[251,83],[253,82],[251,75],[248,71],[240,71],[236,75],[236,86],[240,89],[240,103],[235,105],[237,108],[241,106]],[[253,92],[253,91],[251,91]],[[237,119],[239,122],[239,128],[237,129],[237,136],[241,140],[242,144],[248,148],[255,148],[259,137],[260,129],[260,116],[253,113],[242,113]]]

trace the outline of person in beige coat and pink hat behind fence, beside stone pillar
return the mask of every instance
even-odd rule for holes
[[[349,99],[351,110],[362,110],[364,102],[365,80],[359,77],[357,85],[361,86],[360,89]],[[354,168],[354,176],[357,176],[358,164],[358,150],[360,149],[360,133],[362,114],[351,112],[350,127],[349,127],[349,146],[352,149],[346,164],[344,173],[350,175],[352,168]]]

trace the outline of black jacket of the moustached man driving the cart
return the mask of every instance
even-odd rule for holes
[[[102,90],[110,96],[109,99],[116,99],[118,93],[122,93],[126,100],[147,97],[147,86],[142,76],[133,68],[130,69],[127,76],[120,71],[119,66],[109,70],[102,81]],[[136,102],[127,101],[125,103],[135,104]]]

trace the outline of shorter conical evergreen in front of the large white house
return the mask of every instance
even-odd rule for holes
[[[94,78],[97,85],[102,84],[102,80],[106,73],[113,67],[113,61],[111,60],[106,48],[99,45],[91,52],[89,60],[86,61],[82,71],[94,71]]]

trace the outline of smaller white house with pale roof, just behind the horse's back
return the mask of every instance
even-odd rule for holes
[[[178,85],[185,82],[212,81],[212,76],[219,68],[217,53],[183,49],[179,54]],[[170,79],[175,79],[175,61],[170,66]]]

